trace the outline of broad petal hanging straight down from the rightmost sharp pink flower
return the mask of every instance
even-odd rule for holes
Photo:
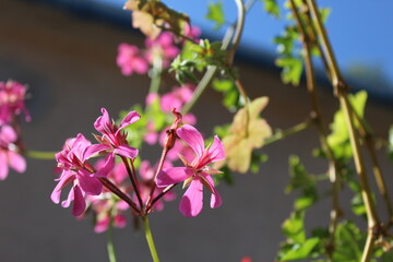
[[[184,195],[181,198],[179,210],[187,217],[196,216],[203,206],[203,184],[193,179]]]

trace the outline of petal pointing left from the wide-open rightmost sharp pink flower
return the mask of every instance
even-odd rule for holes
[[[170,167],[163,169],[156,180],[158,188],[165,188],[172,183],[184,181],[194,174],[194,170],[190,167]]]

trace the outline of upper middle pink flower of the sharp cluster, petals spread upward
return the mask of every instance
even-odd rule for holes
[[[95,135],[100,144],[88,146],[85,154],[92,156],[104,151],[109,153],[107,159],[107,165],[109,166],[104,166],[98,170],[99,176],[107,176],[111,171],[111,167],[114,167],[115,155],[127,158],[136,157],[138,150],[128,144],[127,133],[123,133],[122,129],[138,121],[141,116],[136,111],[130,111],[118,127],[110,120],[109,114],[105,108],[102,108],[102,112],[103,116],[98,117],[94,122],[95,129],[103,134],[102,136]]]

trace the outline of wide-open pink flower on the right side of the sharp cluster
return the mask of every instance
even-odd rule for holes
[[[215,209],[222,204],[222,199],[211,177],[211,175],[219,174],[219,171],[207,167],[207,165],[224,159],[225,153],[217,135],[214,136],[211,146],[204,147],[202,134],[189,124],[178,129],[177,134],[191,146],[196,156],[191,163],[184,157],[180,157],[186,167],[163,169],[156,183],[164,188],[184,181],[184,187],[189,186],[189,188],[180,201],[179,210],[184,216],[192,217],[202,211],[203,186],[212,193],[211,207]]]

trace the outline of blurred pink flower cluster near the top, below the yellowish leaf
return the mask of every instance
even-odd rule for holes
[[[198,27],[188,26],[186,34],[196,41],[201,32]],[[144,49],[122,43],[118,47],[116,62],[123,75],[145,74],[155,61],[159,61],[160,69],[167,69],[179,55],[179,45],[181,43],[177,44],[176,37],[169,32],[163,32],[153,40],[146,38]]]

